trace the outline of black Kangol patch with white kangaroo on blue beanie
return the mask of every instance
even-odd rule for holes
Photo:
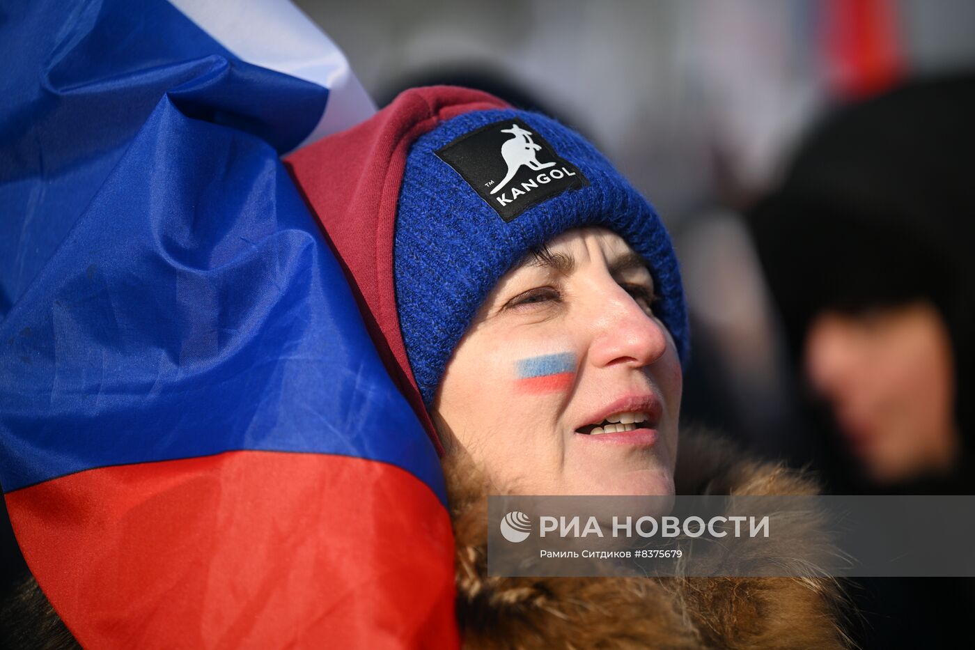
[[[464,134],[437,156],[505,222],[566,189],[589,184],[575,165],[518,118]]]

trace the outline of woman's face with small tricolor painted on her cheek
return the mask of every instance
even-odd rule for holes
[[[683,377],[642,259],[604,229],[568,230],[487,296],[434,400],[513,493],[672,495]]]

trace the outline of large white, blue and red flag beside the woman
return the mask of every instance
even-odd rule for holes
[[[456,645],[436,452],[280,162],[373,110],[341,53],[283,1],[4,11],[0,484],[69,630]]]

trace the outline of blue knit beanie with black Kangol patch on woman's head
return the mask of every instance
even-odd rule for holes
[[[413,143],[397,208],[396,306],[429,407],[453,348],[487,294],[526,253],[570,228],[603,226],[643,256],[654,313],[689,351],[677,258],[643,196],[589,142],[522,110],[482,110]]]

